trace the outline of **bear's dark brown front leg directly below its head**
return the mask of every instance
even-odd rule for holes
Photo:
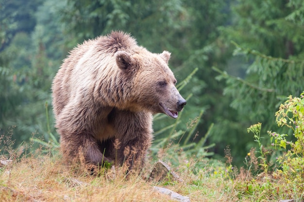
[[[119,142],[115,161],[129,171],[140,170],[152,142],[152,114],[117,110],[114,117]]]

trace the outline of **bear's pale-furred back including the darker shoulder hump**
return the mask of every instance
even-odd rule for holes
[[[89,85],[91,78],[96,77],[98,71],[102,71],[99,67],[113,68],[116,65],[114,54],[118,50],[134,53],[138,48],[140,47],[135,39],[122,31],[112,31],[106,36],[84,41],[74,47],[53,80],[52,104],[55,115],[59,115],[73,94],[75,95],[75,88],[79,88],[79,85]],[[101,61],[108,64],[100,65]]]

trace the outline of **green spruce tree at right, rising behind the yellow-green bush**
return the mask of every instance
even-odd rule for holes
[[[219,27],[219,39],[227,51],[225,54],[234,57],[227,60],[226,69],[213,66],[220,73],[217,80],[226,82],[224,99],[235,111],[231,121],[221,120],[220,124],[247,128],[260,122],[265,126],[264,134],[266,128],[276,127],[273,114],[284,98],[303,91],[304,27],[300,17],[303,2],[237,0],[231,3],[231,9],[231,24]],[[287,130],[279,128],[278,132]],[[244,149],[248,151],[253,146],[247,137],[243,139],[243,133],[238,130],[225,136],[229,137],[225,142],[231,145],[232,154],[235,156],[236,150],[242,153],[242,158]],[[268,141],[269,137],[265,137],[262,143]]]

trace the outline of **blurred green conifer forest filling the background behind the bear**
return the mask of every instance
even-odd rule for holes
[[[250,125],[262,123],[264,145],[266,131],[287,132],[274,114],[304,91],[302,0],[0,0],[0,134],[13,127],[16,147],[33,136],[48,141],[50,123],[58,140],[52,79],[69,50],[112,30],[152,52],[170,51],[180,82],[197,68],[181,90],[189,99],[174,129],[199,120],[187,141],[208,134],[204,154],[223,160],[230,145],[233,164],[242,165],[257,146]],[[173,121],[155,120],[154,130]]]

